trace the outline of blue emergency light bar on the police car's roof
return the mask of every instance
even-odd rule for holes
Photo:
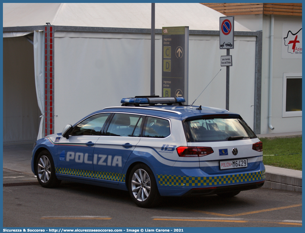
[[[185,99],[182,97],[146,97],[146,98],[124,98],[121,100],[122,104],[174,104],[184,103]]]

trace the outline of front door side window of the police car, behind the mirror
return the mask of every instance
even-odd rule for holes
[[[81,123],[77,124],[74,127],[74,130],[71,135],[102,135],[102,128],[109,115],[110,113],[101,113],[88,117],[87,119],[83,120]]]

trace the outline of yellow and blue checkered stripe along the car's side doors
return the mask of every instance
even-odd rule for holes
[[[56,173],[125,182],[126,174],[56,167]]]

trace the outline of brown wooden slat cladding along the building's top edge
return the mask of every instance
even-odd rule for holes
[[[293,15],[302,16],[302,3],[201,3],[224,15]]]

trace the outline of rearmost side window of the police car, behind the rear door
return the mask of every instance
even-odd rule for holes
[[[145,138],[166,138],[170,135],[169,120],[146,117],[143,135]]]

